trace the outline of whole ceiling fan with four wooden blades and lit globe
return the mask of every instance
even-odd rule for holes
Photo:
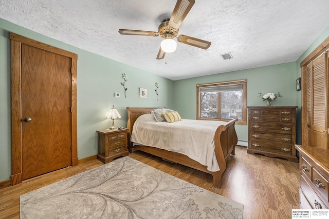
[[[165,57],[166,53],[170,53],[176,50],[177,43],[173,38],[177,38],[177,41],[180,43],[188,44],[190,46],[195,46],[201,49],[208,49],[211,45],[211,42],[186,35],[177,36],[179,26],[191,10],[194,3],[194,0],[177,0],[176,6],[170,19],[168,18],[162,21],[158,32],[119,29],[119,33],[122,35],[161,36],[162,38],[165,38],[161,42],[161,46],[156,59],[162,59]]]

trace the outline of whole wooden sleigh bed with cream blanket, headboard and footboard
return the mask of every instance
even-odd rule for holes
[[[152,117],[154,116],[151,114],[152,111],[154,108],[127,107],[129,152],[133,152],[132,148],[135,148],[210,173],[213,184],[221,187],[222,174],[226,170],[226,164],[231,154],[234,154],[237,143],[234,128],[237,118],[221,122],[189,121],[183,118],[182,121],[167,123],[156,122]],[[165,115],[167,116],[167,114]],[[137,120],[144,121],[146,126],[142,127]],[[151,121],[158,127],[154,128]],[[171,131],[166,134],[161,130]]]

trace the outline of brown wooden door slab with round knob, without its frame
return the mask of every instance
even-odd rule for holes
[[[71,58],[22,45],[23,180],[71,165]]]

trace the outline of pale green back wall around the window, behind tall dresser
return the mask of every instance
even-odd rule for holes
[[[258,93],[278,93],[273,106],[297,106],[296,72],[297,64],[286,63],[261,68],[246,69],[228,73],[183,79],[174,82],[176,93],[174,106],[183,118],[196,118],[196,85],[247,79],[247,106],[266,106]],[[235,125],[237,138],[248,141],[248,126]]]

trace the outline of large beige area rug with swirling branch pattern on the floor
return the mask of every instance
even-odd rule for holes
[[[243,205],[131,157],[20,196],[21,218],[242,218]]]

